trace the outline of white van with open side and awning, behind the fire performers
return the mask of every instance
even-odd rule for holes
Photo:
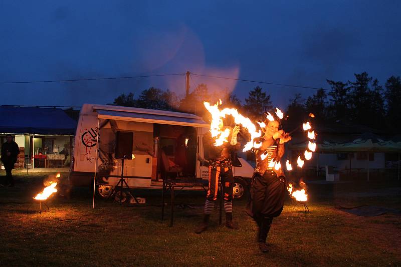
[[[210,124],[193,114],[84,104],[75,134],[71,183],[91,186],[97,171],[98,192],[108,196],[121,176],[121,160],[114,157],[117,131],[133,133],[132,158],[124,160],[124,178],[130,187],[161,189],[161,165],[165,163],[161,157],[165,156],[171,166],[180,167],[180,176],[207,180],[202,137],[209,129]],[[96,147],[99,155],[95,168]],[[235,198],[249,190],[253,171],[246,160],[234,158]]]

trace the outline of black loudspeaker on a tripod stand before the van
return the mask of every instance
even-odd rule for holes
[[[138,203],[138,200],[136,199],[136,197],[130,193],[129,185],[124,179],[124,160],[132,159],[133,140],[134,140],[133,132],[118,131],[116,133],[116,146],[115,146],[115,151],[114,151],[114,158],[121,159],[121,177],[109,197],[111,197],[112,195],[115,196],[117,193],[117,188],[119,188],[120,205],[122,204],[124,185],[125,185],[125,188],[127,189],[128,195],[133,197],[135,199],[135,202]]]

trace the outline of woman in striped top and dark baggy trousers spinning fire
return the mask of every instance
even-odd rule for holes
[[[267,234],[273,218],[283,210],[287,184],[280,159],[284,155],[284,143],[291,140],[288,133],[279,130],[278,121],[266,120],[265,124],[262,146],[255,150],[256,167],[252,177],[251,200],[246,210],[258,224],[257,242],[261,252],[269,251]]]

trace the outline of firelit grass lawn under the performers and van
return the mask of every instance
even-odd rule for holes
[[[311,211],[294,209],[288,198],[273,220],[270,252],[262,254],[256,225],[244,213],[245,200],[234,201],[240,229],[219,226],[216,209],[203,234],[193,233],[202,219],[203,192],[176,197],[174,227],[168,227],[169,206],[167,219],[160,221],[159,190],[135,191],[146,198],[144,205],[97,199],[92,209],[91,192],[74,188],[71,199],[56,194],[48,212],[27,211],[50,174],[17,172],[16,187],[0,188],[0,266],[401,265],[401,216],[360,217],[335,208],[369,204],[401,209],[399,194],[385,194],[399,189],[399,183],[309,185]],[[179,208],[180,203],[193,208]]]

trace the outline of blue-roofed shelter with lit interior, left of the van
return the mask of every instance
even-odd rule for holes
[[[1,106],[0,146],[6,134],[15,136],[20,148],[15,168],[68,164],[76,125],[76,120],[60,108]]]

